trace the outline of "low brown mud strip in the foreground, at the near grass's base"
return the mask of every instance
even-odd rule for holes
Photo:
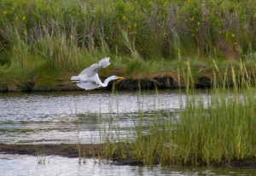
[[[84,154],[86,157],[98,157],[102,159],[109,159],[116,165],[131,165],[139,166],[143,165],[143,161],[131,158],[127,155],[126,158],[122,158],[118,151],[113,153],[113,156],[108,157],[106,155],[106,145],[80,145],[81,156]],[[129,150],[129,147],[126,148]],[[79,157],[79,147],[76,144],[60,144],[60,145],[6,145],[0,144],[0,153],[5,154],[19,154],[19,155],[31,155],[31,156],[66,156],[66,157]],[[128,152],[127,152],[128,153]],[[153,164],[160,164],[159,159],[155,159]],[[201,163],[202,166],[206,165]],[[231,161],[230,163],[211,164],[212,167],[256,167],[256,162],[253,160],[240,160]]]

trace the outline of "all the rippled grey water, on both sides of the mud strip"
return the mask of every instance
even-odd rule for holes
[[[207,99],[207,94],[199,94]],[[0,94],[0,143],[96,144],[106,131],[126,137],[143,113],[144,126],[161,111],[162,118],[178,118],[178,91],[140,93],[61,92]],[[42,158],[39,158],[42,159]],[[254,167],[136,167],[115,166],[94,159],[0,154],[0,175],[255,175]]]

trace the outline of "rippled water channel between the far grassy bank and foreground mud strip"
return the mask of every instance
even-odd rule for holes
[[[146,117],[152,111],[175,116],[178,99],[177,92],[1,94],[1,142],[77,143],[79,132],[81,143],[100,143],[102,128],[125,134],[137,123],[138,111]]]

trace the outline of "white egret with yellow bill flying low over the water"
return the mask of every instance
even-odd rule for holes
[[[79,86],[79,88],[90,90],[94,88],[107,87],[108,82],[113,81],[115,79],[125,79],[125,77],[112,76],[112,77],[108,77],[104,82],[102,82],[99,78],[99,75],[97,74],[97,71],[107,67],[108,65],[110,65],[109,57],[102,59],[96,64],[90,65],[90,67],[80,72],[79,76],[71,77],[71,81],[73,83],[76,83]],[[64,81],[64,80],[58,80],[58,81]]]

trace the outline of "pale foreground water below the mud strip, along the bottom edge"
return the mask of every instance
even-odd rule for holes
[[[0,154],[0,175],[255,175],[255,167],[138,167],[115,166],[108,162],[78,158],[45,156],[44,164],[38,164],[36,156]]]

